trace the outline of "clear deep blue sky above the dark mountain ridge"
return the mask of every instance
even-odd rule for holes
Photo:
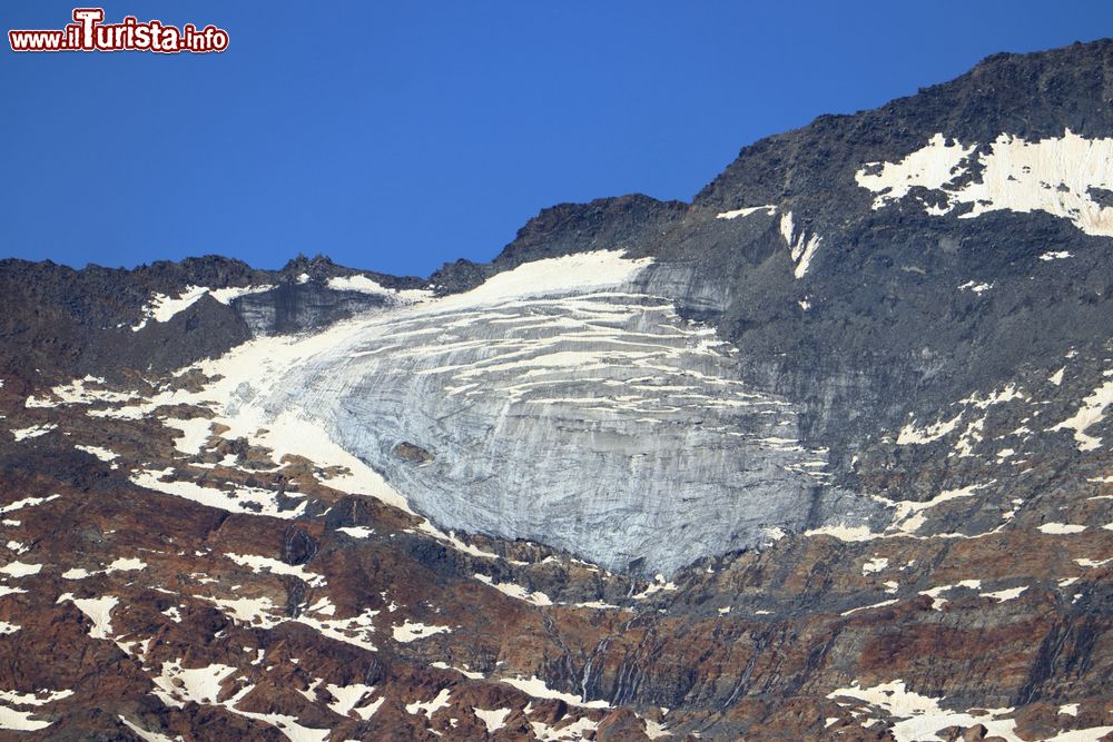
[[[91,3],[88,3],[91,4]],[[0,257],[297,253],[396,274],[492,258],[539,209],[689,200],[738,149],[1113,34],[1107,0],[104,3],[223,55],[0,49]],[[73,3],[3,0],[3,30]],[[7,34],[4,34],[7,36]]]

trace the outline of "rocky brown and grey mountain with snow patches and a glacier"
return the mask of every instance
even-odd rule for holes
[[[1113,739],[1111,238],[1100,41],[427,279],[0,261],[0,729]]]

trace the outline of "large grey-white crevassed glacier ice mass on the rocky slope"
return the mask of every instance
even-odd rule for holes
[[[366,315],[239,389],[322,425],[446,528],[669,572],[799,530],[824,457],[715,332],[638,288],[648,260],[524,264]]]

